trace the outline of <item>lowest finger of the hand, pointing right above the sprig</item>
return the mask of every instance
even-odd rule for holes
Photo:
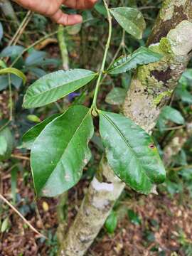
[[[78,14],[63,14],[63,11],[58,10],[53,16],[50,18],[56,23],[62,24],[64,26],[75,25],[77,23],[82,23],[82,16]]]

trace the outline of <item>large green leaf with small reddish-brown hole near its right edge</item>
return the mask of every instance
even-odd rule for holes
[[[154,142],[121,114],[100,111],[100,134],[114,173],[134,190],[148,194],[166,171]]]

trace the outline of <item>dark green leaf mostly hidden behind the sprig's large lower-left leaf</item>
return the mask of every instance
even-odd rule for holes
[[[43,129],[46,127],[46,125],[49,124],[51,121],[53,121],[53,119],[55,119],[58,116],[59,114],[53,114],[52,116],[46,118],[40,124],[36,124],[34,127],[29,129],[28,132],[26,132],[23,135],[23,138],[22,138],[23,144],[21,147],[24,147],[26,149],[31,149],[36,138],[38,137],[39,134],[41,134]]]

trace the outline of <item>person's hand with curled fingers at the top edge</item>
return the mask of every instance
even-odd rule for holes
[[[62,25],[74,25],[82,22],[82,16],[78,14],[64,14],[60,6],[65,4],[72,9],[91,9],[97,0],[14,0],[26,9],[36,11],[50,17],[56,23]]]

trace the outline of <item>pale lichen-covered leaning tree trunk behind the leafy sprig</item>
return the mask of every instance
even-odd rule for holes
[[[164,58],[159,63],[139,67],[132,79],[123,112],[146,132],[154,128],[161,108],[169,102],[191,57],[191,15],[191,1],[164,1],[149,38],[149,44],[153,44],[151,49],[164,53]],[[123,189],[124,183],[102,159],[100,170],[60,246],[60,256],[85,255]]]

